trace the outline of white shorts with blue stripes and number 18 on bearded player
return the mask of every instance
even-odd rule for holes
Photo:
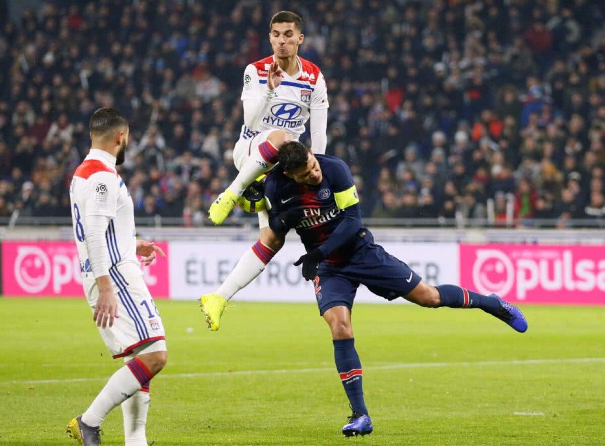
[[[113,327],[99,327],[103,342],[114,358],[132,353],[137,347],[165,339],[164,326],[139,266],[121,264],[110,268],[111,285],[117,301]],[[94,313],[99,298],[92,273],[82,274],[86,300]]]

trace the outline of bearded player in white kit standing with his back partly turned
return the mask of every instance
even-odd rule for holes
[[[162,249],[136,240],[132,200],[116,171],[124,162],[128,121],[113,108],[100,108],[90,119],[92,145],[74,172],[71,217],[80,257],[86,300],[105,345],[126,365],[114,373],[86,412],[67,426],[80,445],[100,442],[100,425],[122,405],[125,444],[147,446],[145,424],[149,382],[166,365],[166,341],[160,318],[136,255],[149,264]],[[117,298],[116,298],[117,297]]]

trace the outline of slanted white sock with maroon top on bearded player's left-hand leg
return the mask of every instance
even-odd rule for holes
[[[117,405],[122,404],[126,399],[130,398],[136,392],[141,389],[142,383],[140,380],[144,379],[140,376],[139,379],[134,373],[148,373],[145,366],[140,366],[142,362],[134,359],[128,362],[126,366],[119,369],[116,373],[111,375],[103,390],[94,399],[93,404],[82,414],[82,422],[91,427],[100,426],[111,410]],[[134,371],[132,369],[135,369]],[[148,376],[146,381],[149,381],[151,376]]]

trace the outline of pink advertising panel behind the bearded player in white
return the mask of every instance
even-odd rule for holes
[[[168,243],[156,243],[168,256]],[[149,292],[167,298],[168,258],[142,267]],[[2,294],[18,297],[83,297],[80,260],[70,241],[2,242]]]

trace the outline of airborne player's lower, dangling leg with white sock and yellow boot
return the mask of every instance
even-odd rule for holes
[[[201,309],[206,315],[209,329],[216,331],[220,327],[221,315],[235,293],[253,281],[264,271],[267,263],[284,245],[283,235],[275,234],[270,228],[266,212],[258,215],[261,234],[257,243],[244,252],[231,274],[212,294],[200,298]]]

